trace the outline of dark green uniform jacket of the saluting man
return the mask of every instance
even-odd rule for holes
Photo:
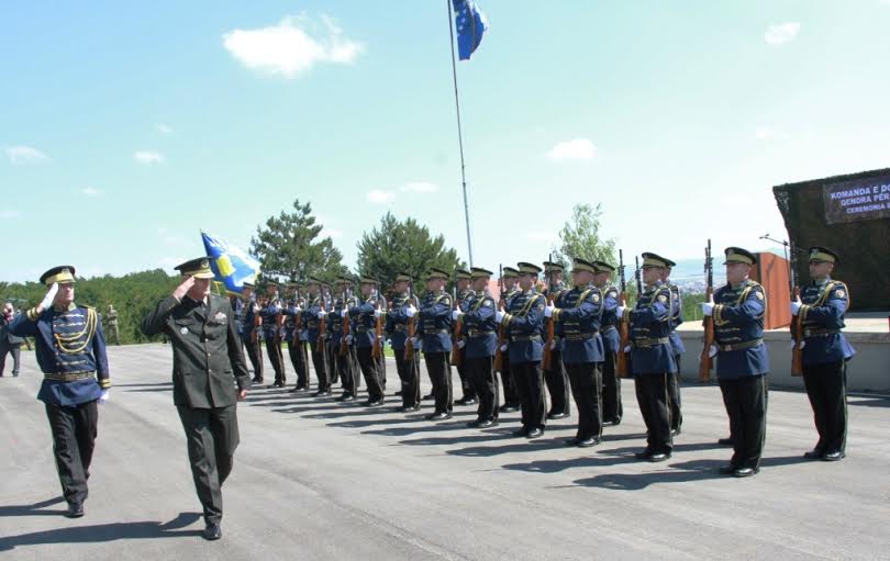
[[[174,349],[174,403],[193,408],[234,405],[251,385],[229,300],[211,294],[209,304],[185,296],[162,300],[142,323],[146,335],[165,333]]]

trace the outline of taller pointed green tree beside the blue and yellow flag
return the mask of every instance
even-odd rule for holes
[[[265,277],[288,280],[309,276],[333,281],[346,273],[343,254],[330,237],[321,238],[322,225],[312,214],[311,203],[293,201],[293,212],[270,216],[265,226],[257,226],[251,238],[251,254],[260,262]]]

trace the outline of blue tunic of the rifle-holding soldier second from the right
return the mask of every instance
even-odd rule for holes
[[[766,294],[753,280],[714,292],[714,343],[717,346],[716,374],[721,380],[769,372],[769,355],[764,344]]]

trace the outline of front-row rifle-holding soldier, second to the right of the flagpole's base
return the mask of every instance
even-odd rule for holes
[[[537,438],[544,435],[547,423],[547,400],[541,370],[546,301],[535,291],[541,267],[530,262],[520,262],[516,267],[520,293],[510,300],[507,311],[498,311],[494,319],[498,324],[507,324],[510,374],[516,383],[522,409],[522,428],[513,436]]]

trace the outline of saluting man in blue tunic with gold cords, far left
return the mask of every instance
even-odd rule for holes
[[[40,280],[48,289],[43,300],[14,316],[9,329],[19,337],[34,337],[43,371],[37,399],[46,406],[62,495],[68,502],[65,516],[78,518],[89,494],[97,405],[108,401],[111,388],[105,339],[96,308],[74,302],[74,267],[54,267]]]

